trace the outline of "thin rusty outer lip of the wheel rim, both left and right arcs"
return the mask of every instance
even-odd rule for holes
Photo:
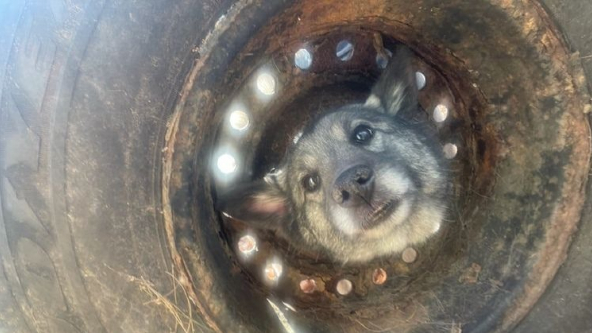
[[[545,22],[545,24],[549,25],[551,21],[548,17],[546,17],[545,12],[543,12],[542,9],[540,9],[536,2],[532,2],[532,4],[535,5],[537,9],[536,13],[538,14],[538,17],[536,15],[533,15],[532,12],[528,12],[527,14],[531,16],[525,20],[540,20]],[[169,129],[166,136],[167,149],[163,157],[163,208],[167,227],[166,230],[168,234],[168,241],[173,256],[173,261],[175,262],[176,267],[178,268],[179,274],[186,278],[185,281],[187,281],[187,283],[185,287],[187,287],[188,290],[192,290],[191,296],[193,302],[195,303],[195,305],[198,306],[198,309],[200,309],[201,314],[208,321],[208,324],[210,324],[212,328],[216,331],[220,331],[220,327],[217,325],[215,319],[212,318],[212,315],[211,313],[209,313],[207,307],[203,305],[207,302],[203,302],[203,300],[200,300],[201,297],[198,297],[198,293],[195,292],[195,290],[193,289],[194,284],[189,282],[191,281],[191,276],[187,271],[181,254],[179,254],[179,252],[176,250],[177,243],[175,241],[174,227],[175,217],[173,216],[172,209],[170,208],[169,186],[171,174],[173,172],[173,153],[175,149],[177,129],[179,126],[179,121],[181,119],[182,113],[184,111],[186,100],[189,94],[191,93],[191,89],[193,88],[192,86],[194,84],[194,78],[198,75],[198,72],[200,72],[202,66],[204,66],[207,57],[210,56],[209,52],[211,51],[211,49],[208,48],[213,47],[215,45],[214,40],[216,38],[216,35],[218,37],[220,36],[220,34],[216,34],[215,31],[220,31],[221,29],[227,28],[231,24],[231,22],[233,22],[233,15],[234,17],[240,15],[240,9],[246,5],[247,2],[240,2],[239,4],[237,4],[229,13],[229,15],[227,15],[227,17],[221,22],[221,24],[217,25],[217,30],[215,29],[214,33],[211,34],[211,36],[208,36],[208,38],[204,41],[202,47],[200,47],[201,58],[195,62],[194,68],[192,68],[191,74],[189,75],[188,80],[184,85],[181,98],[179,100],[179,103],[177,104],[178,106],[175,109],[175,114],[169,121]],[[556,30],[553,31],[556,32]],[[564,43],[562,43],[561,37],[559,36],[559,34],[555,34],[556,40],[554,41],[554,43],[556,43],[555,45],[558,44],[561,46],[561,52],[558,52],[561,53],[561,55],[558,55],[558,62],[563,63],[563,65],[565,66],[565,71],[567,73],[571,73],[571,76],[577,78],[579,78],[580,76],[583,77],[583,74],[581,74],[580,68],[577,65],[577,63],[564,63],[561,61],[561,59],[565,59],[566,57],[569,58],[569,56],[567,48],[565,48],[565,45]],[[573,83],[576,93],[581,93],[581,89],[583,89],[583,82]],[[574,106],[574,108],[578,110],[585,111],[585,104],[583,103],[583,100],[581,98],[580,100],[575,98],[575,101],[572,102],[572,105]],[[572,135],[574,137],[589,137],[590,126],[588,123],[583,124],[584,126],[581,126],[582,124],[579,124],[579,127],[577,123],[573,125],[574,126],[572,126],[571,128]],[[577,140],[575,140],[575,142],[578,143]],[[575,151],[577,153],[575,155],[580,155],[585,158],[580,158],[578,159],[578,161],[574,161],[574,164],[572,164],[571,168],[566,172],[566,174],[569,176],[567,184],[570,185],[564,187],[564,192],[561,194],[562,203],[559,204],[558,208],[556,209],[554,217],[552,219],[554,222],[549,228],[549,230],[551,230],[552,232],[546,234],[545,244],[539,251],[539,261],[533,267],[533,272],[538,273],[534,274],[533,276],[537,276],[538,278],[532,278],[530,281],[527,282],[522,296],[520,297],[520,299],[516,300],[516,306],[506,311],[506,316],[502,325],[498,326],[499,331],[506,331],[507,329],[510,329],[511,327],[516,325],[516,323],[519,322],[520,319],[523,318],[523,316],[526,315],[526,313],[534,305],[540,294],[542,294],[542,292],[545,290],[545,287],[548,285],[549,281],[551,281],[559,265],[561,265],[561,263],[565,260],[565,255],[567,253],[567,248],[570,243],[571,235],[575,232],[577,222],[579,220],[580,208],[583,204],[584,186],[582,184],[585,184],[585,182],[587,181],[585,177],[587,172],[584,172],[583,174],[581,170],[588,170],[590,167],[590,149],[591,148],[589,141],[580,142],[580,144],[576,146]],[[579,190],[577,191],[577,193],[574,193],[574,191],[571,190],[572,188],[578,188]],[[565,223],[566,221],[568,223]],[[551,262],[551,264],[549,264],[549,262]],[[183,279],[180,280],[184,281]]]

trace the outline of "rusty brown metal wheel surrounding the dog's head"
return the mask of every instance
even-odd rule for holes
[[[219,110],[272,64],[281,83],[276,98],[244,97],[265,113],[242,140],[251,147],[240,151],[250,171],[240,177],[262,175],[314,110],[365,95],[379,71],[376,31],[387,47],[398,40],[419,55],[429,82],[420,92],[424,108],[442,100],[452,107],[437,127],[462,147],[453,160],[451,222],[415,262],[384,262],[389,278],[382,285],[372,282],[376,265],[289,255],[274,235],[263,235],[261,251],[285,254],[284,279],[270,289],[249,274],[265,262],[247,266],[236,258],[229,231],[241,226],[222,225],[213,209],[209,161],[224,119]],[[345,38],[355,52],[342,62],[335,50]],[[293,60],[304,44],[315,59],[305,73]],[[163,197],[175,262],[214,328],[279,331],[285,323],[266,298],[291,296],[298,313],[285,321],[315,331],[507,331],[564,260],[590,161],[589,97],[578,63],[534,2],[342,1],[337,11],[313,1],[240,3],[199,52],[169,126]],[[170,197],[191,214],[175,214]],[[303,293],[303,276],[323,284]],[[343,278],[355,287],[336,297]]]

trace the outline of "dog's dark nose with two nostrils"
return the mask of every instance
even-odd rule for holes
[[[369,204],[374,191],[374,172],[367,165],[351,167],[337,177],[333,200],[342,206]]]

